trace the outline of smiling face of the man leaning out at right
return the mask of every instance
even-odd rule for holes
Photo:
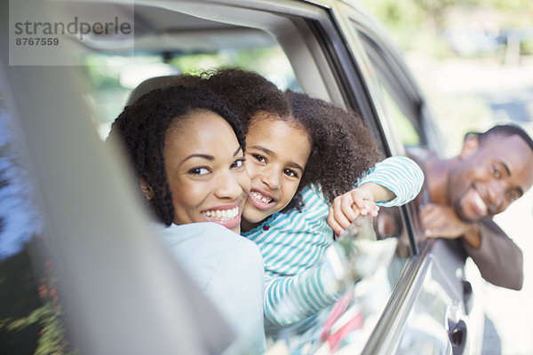
[[[449,172],[448,202],[466,222],[503,212],[533,184],[533,151],[519,136],[465,141]]]

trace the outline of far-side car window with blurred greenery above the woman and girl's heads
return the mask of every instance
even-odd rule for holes
[[[141,51],[134,57],[106,51],[84,55],[87,97],[99,136],[107,137],[111,123],[123,110],[131,91],[155,76],[201,74],[224,66],[243,67],[264,75],[283,91],[301,91],[280,45],[267,34],[254,36],[261,40],[249,38],[249,47],[239,43],[231,48],[220,43],[219,48],[206,50],[198,42],[196,48],[187,45],[186,51],[177,43],[172,51]],[[235,35],[235,40],[238,38]]]

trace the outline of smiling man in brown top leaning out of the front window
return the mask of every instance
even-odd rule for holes
[[[533,141],[528,134],[517,126],[501,125],[468,133],[461,153],[451,159],[409,153],[426,174],[418,196],[426,237],[456,239],[485,280],[521,289],[521,249],[492,217],[533,184]]]

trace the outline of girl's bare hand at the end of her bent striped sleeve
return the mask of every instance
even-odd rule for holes
[[[328,214],[328,225],[338,235],[359,215],[376,217],[378,210],[370,189],[357,187],[333,200]]]

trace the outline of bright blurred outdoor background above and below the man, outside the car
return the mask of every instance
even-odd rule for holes
[[[364,0],[400,46],[438,119],[446,156],[465,133],[501,122],[533,134],[533,2]],[[484,306],[499,340],[484,353],[533,354],[533,193],[497,223],[522,249],[521,291],[487,283]]]

